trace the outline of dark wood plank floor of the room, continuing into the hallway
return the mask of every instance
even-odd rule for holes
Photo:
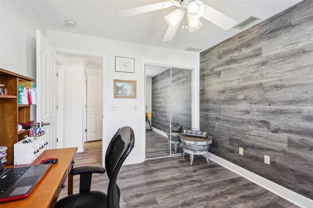
[[[85,143],[76,153],[76,166],[101,166],[101,141]],[[91,189],[107,192],[106,173],[93,176]],[[172,157],[122,166],[117,184],[121,208],[297,208],[204,157]],[[74,192],[79,177],[74,176]],[[67,187],[59,198],[67,195]]]

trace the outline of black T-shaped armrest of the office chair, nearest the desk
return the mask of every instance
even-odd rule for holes
[[[92,173],[105,173],[104,167],[97,166],[81,166],[75,167],[70,171],[71,175],[80,175],[79,193],[89,191],[91,186]]]

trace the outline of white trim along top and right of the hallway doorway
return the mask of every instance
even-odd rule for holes
[[[96,53],[92,51],[82,51],[82,50],[73,50],[73,49],[68,49],[68,48],[55,48],[57,53],[62,53],[62,54],[70,54],[70,55],[79,55],[79,56],[91,56],[91,57],[98,57],[102,58],[102,113],[103,116],[105,117],[105,107],[107,106],[107,101],[105,99],[105,78],[107,77],[107,55],[104,53]],[[84,102],[83,102],[84,103]],[[105,119],[103,118],[102,121],[102,138],[104,138],[104,132],[106,132],[107,127],[106,127],[106,122]],[[102,166],[105,166],[105,152],[107,149],[107,141],[105,139],[102,140]]]

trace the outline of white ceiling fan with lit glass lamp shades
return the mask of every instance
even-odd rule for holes
[[[169,25],[163,42],[172,41],[175,33],[182,21],[185,13],[187,14],[187,22],[189,31],[193,32],[201,27],[200,17],[211,21],[217,26],[228,30],[233,27],[237,22],[233,19],[227,17],[223,13],[213,9],[212,7],[203,4],[200,0],[168,0],[161,1],[154,4],[149,4],[145,6],[139,6],[131,9],[126,9],[116,12],[117,16],[120,17],[130,17],[134,15],[139,15],[147,12],[156,11],[159,9],[169,8],[170,6],[179,7],[169,15],[165,17],[165,21]]]

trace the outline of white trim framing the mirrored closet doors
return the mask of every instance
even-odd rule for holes
[[[183,69],[190,69],[193,70],[193,91],[192,91],[192,126],[193,128],[199,129],[199,68],[195,65],[184,65],[181,63],[175,63],[175,62],[164,62],[159,60],[147,60],[142,59],[141,62],[141,80],[144,84],[141,85],[141,97],[143,98],[141,100],[141,106],[143,106],[141,109],[141,138],[142,138],[142,158],[141,161],[144,162],[146,158],[146,95],[145,95],[145,87],[146,87],[146,78],[145,78],[145,65],[157,65],[157,66],[167,66],[172,68],[183,68]]]

